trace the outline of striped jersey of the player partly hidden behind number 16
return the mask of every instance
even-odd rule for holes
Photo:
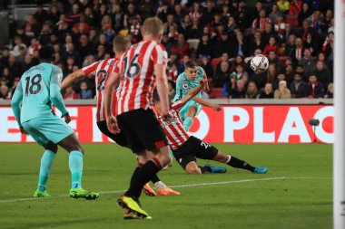
[[[105,108],[104,108],[104,85],[108,80],[110,74],[114,71],[118,65],[118,58],[111,58],[107,60],[101,60],[94,62],[89,66],[84,67],[83,72],[89,76],[94,77],[96,97],[97,97],[97,122],[106,120]],[[113,103],[116,103],[116,92],[113,93]],[[113,114],[115,115],[115,106],[113,106]]]

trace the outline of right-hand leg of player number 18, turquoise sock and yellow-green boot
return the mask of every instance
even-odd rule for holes
[[[58,143],[59,146],[67,150],[69,155],[69,167],[71,170],[72,187],[70,189],[70,196],[73,198],[96,199],[98,194],[86,191],[82,187],[83,175],[83,148],[80,146],[79,140],[75,133],[69,135]]]

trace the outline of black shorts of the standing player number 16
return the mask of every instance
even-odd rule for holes
[[[117,122],[133,153],[168,145],[168,140],[153,110],[130,110],[118,115]]]

